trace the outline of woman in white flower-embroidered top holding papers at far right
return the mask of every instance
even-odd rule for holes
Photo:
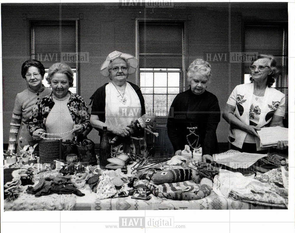
[[[272,55],[260,54],[249,68],[251,83],[235,87],[222,116],[230,124],[230,149],[266,153],[259,146],[257,130],[267,126],[284,127],[286,97],[271,87],[280,72]],[[278,141],[277,148],[286,149],[286,142]]]

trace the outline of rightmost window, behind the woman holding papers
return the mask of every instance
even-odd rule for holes
[[[281,75],[273,84],[286,95],[286,113],[288,113],[288,24],[245,24],[244,52],[273,55]],[[251,63],[244,63],[244,83],[250,82]],[[284,124],[287,125],[288,114]]]

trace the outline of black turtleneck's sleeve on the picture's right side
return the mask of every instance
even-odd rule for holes
[[[209,154],[212,155],[213,148],[216,139],[216,130],[218,123],[220,122],[220,108],[218,99],[216,96],[213,101],[209,104],[209,110],[207,115],[207,126],[206,126],[206,133],[204,138],[204,146],[202,148],[203,155]]]

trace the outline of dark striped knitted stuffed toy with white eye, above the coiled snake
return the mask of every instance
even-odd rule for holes
[[[152,181],[155,184],[176,183],[192,179],[192,169],[172,169],[155,173]]]

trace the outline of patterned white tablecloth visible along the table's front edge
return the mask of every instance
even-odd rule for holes
[[[148,201],[131,199],[131,196],[97,200],[95,193],[86,187],[80,189],[85,196],[76,197],[74,210],[173,210],[173,209],[282,209],[280,207],[255,205],[230,198],[217,196],[214,191],[203,199],[192,201],[176,201],[161,199],[153,194]]]

